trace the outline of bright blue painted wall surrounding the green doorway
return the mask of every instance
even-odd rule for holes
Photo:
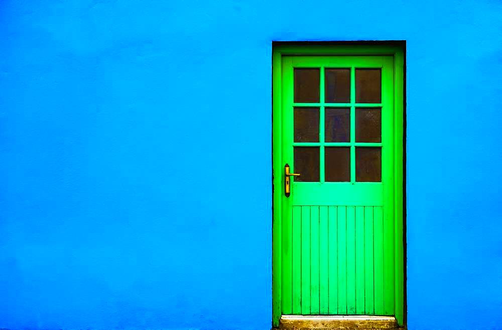
[[[0,327],[269,329],[272,41],[407,40],[408,325],[501,329],[500,17],[3,0]]]

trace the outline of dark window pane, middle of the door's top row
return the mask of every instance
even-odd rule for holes
[[[349,103],[350,69],[325,69],[324,86],[325,102]]]

